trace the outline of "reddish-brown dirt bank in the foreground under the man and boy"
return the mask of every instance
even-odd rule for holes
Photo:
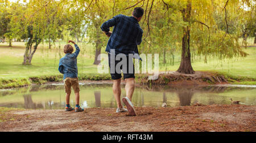
[[[256,106],[203,105],[138,107],[138,116],[115,109],[92,108],[85,112],[19,110],[7,117],[0,131],[256,131]]]

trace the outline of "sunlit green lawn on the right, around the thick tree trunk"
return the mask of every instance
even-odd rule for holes
[[[233,77],[248,77],[256,79],[256,46],[247,47],[244,49],[247,55],[245,58],[233,58],[233,59],[216,59],[208,58],[207,63],[204,62],[204,58],[196,57],[192,62],[193,70],[195,71],[213,71],[223,73],[224,75],[230,75]],[[160,65],[161,71],[176,71],[179,68],[180,56],[177,55],[174,66]]]

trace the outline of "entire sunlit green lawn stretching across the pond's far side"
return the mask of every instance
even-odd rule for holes
[[[31,76],[61,75],[57,68],[59,59],[64,56],[64,43],[56,43],[52,46],[52,49],[48,49],[47,44],[39,45],[32,59],[32,65],[22,64],[25,50],[24,44],[24,42],[13,42],[12,47],[9,47],[7,42],[0,44],[0,78],[19,79]],[[97,66],[93,65],[93,45],[85,43],[79,43],[78,45],[81,49],[81,53],[77,58],[79,75],[99,74]],[[192,66],[195,71],[213,71],[234,77],[256,79],[256,46],[247,47],[244,51],[249,54],[245,58],[220,60],[208,57],[207,63],[204,62],[204,58],[196,56],[193,59]],[[102,53],[105,53],[105,48],[102,48]],[[160,71],[175,71],[179,67],[179,63],[180,52],[176,52],[174,65],[172,66],[171,63],[160,63]]]

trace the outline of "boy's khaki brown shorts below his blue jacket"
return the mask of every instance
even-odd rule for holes
[[[75,93],[80,91],[78,78],[67,77],[63,81],[66,93],[71,93],[71,86],[73,87]]]

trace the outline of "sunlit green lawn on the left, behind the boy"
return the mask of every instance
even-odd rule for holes
[[[61,45],[63,47],[63,45]],[[93,65],[92,46],[80,45],[81,52],[77,59],[79,73],[96,73],[97,66]],[[89,47],[88,49],[86,49]],[[64,56],[63,49],[52,47],[48,49],[46,45],[40,45],[31,65],[23,65],[24,42],[14,42],[13,47],[0,44],[0,77],[3,79],[13,79],[19,77],[61,75],[58,71],[59,59]],[[86,54],[85,54],[86,53]]]

